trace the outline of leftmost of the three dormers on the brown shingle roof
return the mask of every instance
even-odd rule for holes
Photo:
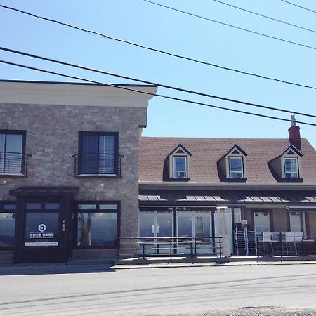
[[[184,145],[174,148],[166,158],[169,179],[173,180],[189,180],[190,179],[190,158],[192,154]]]

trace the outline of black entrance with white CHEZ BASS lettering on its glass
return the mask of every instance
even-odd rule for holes
[[[70,245],[67,197],[18,197],[15,263],[65,263]]]

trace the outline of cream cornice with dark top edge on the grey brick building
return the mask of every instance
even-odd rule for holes
[[[154,85],[0,80],[0,103],[147,107]]]

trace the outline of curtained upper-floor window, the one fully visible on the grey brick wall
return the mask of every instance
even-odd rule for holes
[[[79,174],[117,175],[117,135],[117,133],[79,133]]]

